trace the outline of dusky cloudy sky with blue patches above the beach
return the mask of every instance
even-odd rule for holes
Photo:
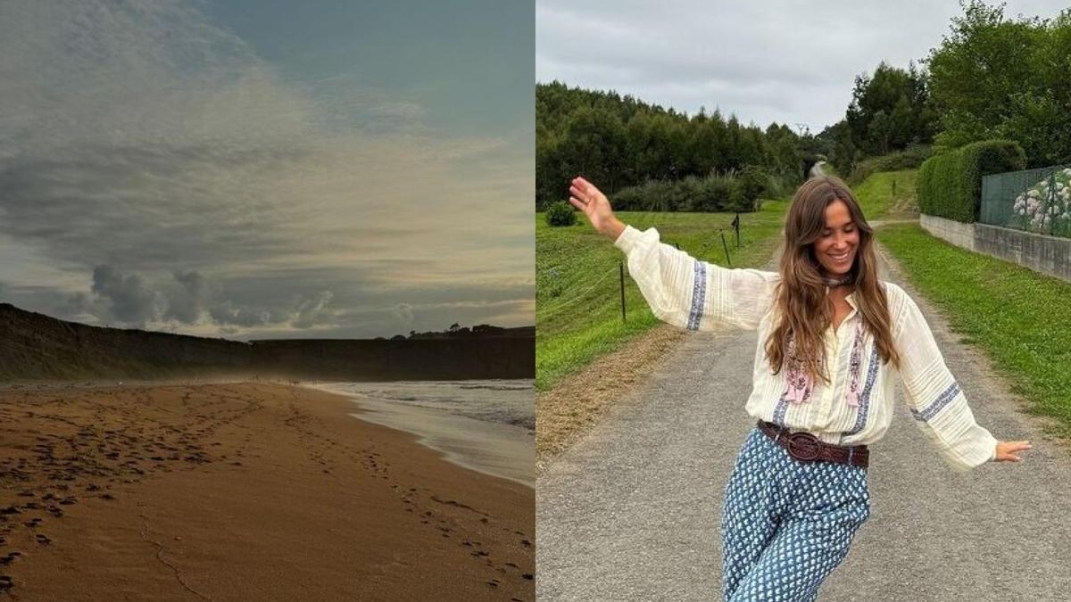
[[[0,3],[0,301],[232,338],[534,323],[534,7],[297,6]]]

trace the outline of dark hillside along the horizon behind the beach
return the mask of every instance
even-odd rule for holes
[[[0,303],[0,380],[532,378],[534,327],[417,340],[207,338],[59,320]]]

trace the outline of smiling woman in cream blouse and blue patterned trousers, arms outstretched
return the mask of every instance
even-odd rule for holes
[[[1019,462],[1028,441],[979,426],[918,306],[877,279],[873,230],[843,182],[796,192],[778,273],[729,270],[621,223],[583,178],[570,201],[614,240],[654,315],[689,330],[758,330],[746,411],[758,420],[737,456],[722,513],[723,592],[815,600],[870,515],[866,446],[892,415],[895,376],[917,423],[956,469]]]

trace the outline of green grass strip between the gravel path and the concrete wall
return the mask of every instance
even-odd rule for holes
[[[881,228],[888,249],[952,329],[981,348],[1029,400],[1029,410],[1071,436],[1071,285],[970,253],[914,224]]]

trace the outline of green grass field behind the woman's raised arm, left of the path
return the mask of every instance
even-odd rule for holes
[[[728,231],[733,213],[629,211],[618,217],[642,230],[654,226],[663,242],[722,266],[725,252],[718,230],[725,228],[733,267],[761,267],[779,242],[787,206],[785,200],[768,200],[760,211],[742,213],[740,249]],[[659,323],[628,273],[628,321],[621,321],[618,265],[624,254],[595,234],[583,214],[577,219],[575,226],[552,228],[542,212],[536,214],[536,388],[540,391]]]

